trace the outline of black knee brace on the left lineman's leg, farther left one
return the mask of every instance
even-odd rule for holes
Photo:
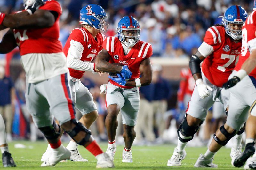
[[[56,130],[57,127],[59,127],[58,131]],[[41,127],[39,129],[44,134],[45,138],[49,140],[57,139],[61,132],[60,125],[58,125],[55,121],[53,121],[51,126]]]

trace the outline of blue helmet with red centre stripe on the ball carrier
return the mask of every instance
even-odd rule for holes
[[[140,40],[140,24],[132,16],[124,16],[117,24],[117,35],[120,41],[124,42],[127,47],[134,46]],[[134,36],[125,36],[124,30],[135,30]],[[128,42],[125,38],[128,38]]]

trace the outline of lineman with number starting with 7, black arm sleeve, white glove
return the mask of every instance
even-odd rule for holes
[[[222,85],[228,80],[228,76],[238,60],[242,42],[242,25],[246,18],[247,13],[241,6],[230,6],[223,17],[224,26],[210,27],[206,31],[204,42],[192,55],[189,66],[196,86],[188,103],[185,118],[178,129],[178,145],[168,160],[167,166],[181,165],[181,161],[186,156],[185,147],[188,141],[193,139],[194,134],[205,120],[207,110],[217,98],[227,109],[229,92],[222,89]],[[200,63],[203,60],[201,71]],[[226,131],[223,126],[220,129]],[[216,139],[216,135],[214,134],[214,139]],[[233,133],[226,133],[228,139],[234,135]],[[238,135],[238,138],[237,144],[233,145],[231,150],[232,158],[238,155],[235,153],[241,152],[241,135]],[[224,140],[222,144],[225,145],[227,142],[228,140]],[[211,156],[206,154],[206,157],[201,155],[195,166],[217,167],[217,165],[212,164],[213,155],[213,153]]]

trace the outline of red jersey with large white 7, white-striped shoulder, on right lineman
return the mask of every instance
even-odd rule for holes
[[[212,26],[206,31],[204,42],[212,46],[213,52],[205,58],[202,71],[213,85],[222,87],[237,63],[242,40],[236,43],[224,27]]]

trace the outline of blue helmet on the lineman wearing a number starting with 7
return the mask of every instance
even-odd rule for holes
[[[242,6],[232,5],[228,7],[222,18],[222,23],[225,26],[226,33],[234,40],[240,40],[242,38],[242,29],[234,30],[231,28],[231,24],[244,24],[247,18],[247,12]]]

